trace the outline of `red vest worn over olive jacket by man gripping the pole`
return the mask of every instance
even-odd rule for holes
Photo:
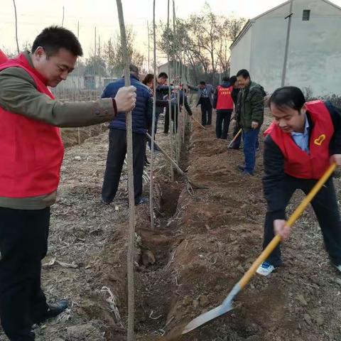
[[[43,76],[24,55],[0,65],[21,67],[38,92],[53,99]],[[0,107],[0,197],[34,197],[53,193],[59,183],[64,147],[60,129]]]

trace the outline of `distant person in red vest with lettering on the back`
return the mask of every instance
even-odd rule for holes
[[[217,139],[227,139],[229,121],[231,121],[233,112],[232,92],[233,86],[229,82],[229,77],[223,77],[222,84],[217,86],[213,99],[213,108],[217,109],[217,120],[215,123]]]

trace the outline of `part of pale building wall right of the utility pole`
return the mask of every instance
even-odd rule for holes
[[[310,21],[302,21],[310,9]],[[286,85],[341,94],[341,10],[321,0],[294,1]]]

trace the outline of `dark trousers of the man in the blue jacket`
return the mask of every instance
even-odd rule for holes
[[[135,199],[142,195],[142,175],[144,174],[144,157],[146,155],[146,136],[133,133],[133,167]],[[126,157],[126,131],[110,129],[107,166],[104,173],[102,199],[112,202],[119,188],[119,178]]]

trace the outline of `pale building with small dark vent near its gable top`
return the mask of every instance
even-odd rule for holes
[[[252,80],[266,92],[281,86],[289,6],[256,18],[252,33],[232,48],[231,75],[249,68]],[[309,21],[302,21],[303,9],[310,9]],[[340,42],[340,9],[323,0],[294,0],[286,85],[310,87],[315,95],[341,94]],[[240,63],[243,58],[249,58],[249,65]]]

